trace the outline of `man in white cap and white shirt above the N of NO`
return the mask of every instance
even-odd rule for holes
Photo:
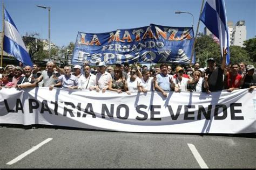
[[[110,73],[106,72],[106,64],[105,62],[99,62],[99,73],[96,74],[96,91],[102,90],[104,93],[109,88],[109,82],[112,81],[112,77]],[[93,88],[94,89],[94,88]]]

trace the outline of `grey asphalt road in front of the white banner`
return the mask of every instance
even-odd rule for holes
[[[255,134],[200,136],[0,125],[0,136],[0,168],[256,168]],[[46,139],[41,147],[33,147]],[[7,164],[31,148],[35,151]]]

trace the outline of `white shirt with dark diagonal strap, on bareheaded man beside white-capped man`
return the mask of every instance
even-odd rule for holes
[[[90,73],[87,79],[84,74],[79,77],[78,79],[79,89],[89,89],[92,86],[96,86],[96,75]]]

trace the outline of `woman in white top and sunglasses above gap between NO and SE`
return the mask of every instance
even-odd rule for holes
[[[130,72],[130,77],[127,79],[127,87],[128,91],[126,91],[127,94],[131,94],[131,92],[140,92],[142,91],[142,81],[137,77],[136,75],[136,69],[132,69]]]

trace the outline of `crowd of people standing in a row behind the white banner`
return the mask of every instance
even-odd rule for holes
[[[207,60],[208,67],[200,67],[198,62],[193,66],[177,66],[172,69],[167,63],[154,68],[134,63],[116,62],[114,66],[106,66],[102,61],[96,66],[90,66],[85,61],[83,66],[65,66],[59,68],[52,61],[46,63],[46,68],[41,70],[34,64],[30,66],[8,65],[0,67],[0,89],[4,88],[34,88],[55,87],[69,89],[89,89],[97,92],[106,90],[117,93],[131,94],[133,92],[146,93],[147,91],[160,91],[167,97],[166,91],[198,91],[211,93],[227,89],[232,92],[235,89],[248,88],[252,91],[256,88],[256,74],[253,65],[245,65],[244,62],[233,63],[226,66],[225,60],[220,66],[216,66],[213,58]]]

